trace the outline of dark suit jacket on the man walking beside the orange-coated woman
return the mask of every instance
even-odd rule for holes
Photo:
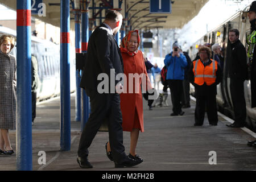
[[[123,60],[114,36],[102,23],[90,35],[88,42],[86,64],[80,83],[80,87],[85,89],[87,96],[90,96],[92,91],[96,92],[98,84],[102,81],[97,80],[100,73],[108,75],[110,93],[110,69],[115,70],[115,76],[123,73]],[[119,80],[113,81],[114,86],[119,82]]]

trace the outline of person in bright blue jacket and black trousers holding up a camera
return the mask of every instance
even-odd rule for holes
[[[181,110],[181,93],[183,92],[184,68],[187,67],[187,59],[179,51],[179,44],[172,44],[172,52],[166,55],[164,64],[167,67],[166,80],[171,90],[172,111],[171,116],[183,115]]]

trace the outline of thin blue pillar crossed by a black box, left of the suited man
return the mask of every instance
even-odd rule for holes
[[[80,36],[80,12],[75,13],[75,32],[76,32],[76,53],[81,53],[81,36]],[[76,70],[76,117],[75,121],[81,121],[81,88],[80,88],[80,71]]]

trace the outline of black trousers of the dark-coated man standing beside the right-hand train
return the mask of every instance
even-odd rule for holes
[[[234,107],[235,122],[245,124],[246,119],[246,103],[245,93],[243,91],[243,79],[230,78],[230,93]]]

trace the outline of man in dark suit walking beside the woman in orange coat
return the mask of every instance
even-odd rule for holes
[[[122,15],[118,11],[109,11],[106,19],[97,27],[89,38],[86,64],[81,78],[81,88],[90,97],[91,113],[82,131],[77,162],[81,168],[92,168],[88,162],[88,148],[92,143],[102,121],[108,120],[109,141],[112,148],[115,167],[135,166],[141,161],[130,159],[123,146],[120,80],[115,80],[118,73],[123,73],[123,60],[114,35],[122,25]],[[113,74],[114,73],[114,74]],[[109,84],[100,86],[99,76],[107,75]],[[112,75],[112,76],[110,76]],[[105,80],[104,80],[105,81]],[[112,84],[114,82],[114,84]]]

